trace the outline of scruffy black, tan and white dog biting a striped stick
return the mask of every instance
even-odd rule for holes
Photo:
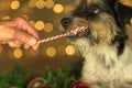
[[[91,88],[132,88],[132,47],[125,29],[132,6],[121,1],[79,0],[61,21],[64,32],[87,26],[68,38],[85,58],[81,80]]]

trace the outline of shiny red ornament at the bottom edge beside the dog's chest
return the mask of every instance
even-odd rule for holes
[[[86,81],[77,80],[72,84],[70,88],[91,88],[91,86]]]

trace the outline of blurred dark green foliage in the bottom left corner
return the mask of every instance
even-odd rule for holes
[[[0,88],[24,88],[30,76],[20,67],[16,67],[14,70],[7,69],[0,74]]]

